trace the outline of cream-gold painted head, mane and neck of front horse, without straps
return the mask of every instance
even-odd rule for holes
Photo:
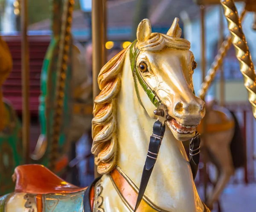
[[[143,20],[137,30],[136,48],[139,48],[140,52],[136,62],[137,65],[142,61],[147,64],[148,71],[141,75],[168,107],[169,113],[175,117],[180,115],[177,120],[182,124],[196,125],[204,116],[205,110],[204,102],[193,94],[194,57],[189,51],[190,43],[179,37],[180,28],[177,20],[168,34],[151,33],[149,21]],[[104,174],[101,179],[106,212],[113,209],[131,211],[114,189],[108,173],[118,164],[137,187],[140,185],[147,141],[157,119],[153,113],[155,106],[140,84],[138,90],[145,110],[137,99],[131,74],[129,48],[131,46],[113,57],[102,68],[98,77],[99,88],[102,91],[94,100],[92,153],[96,155],[95,164],[98,166],[98,172]],[[172,110],[179,102],[183,104],[183,110],[181,114],[176,114],[179,111],[175,113]],[[204,206],[194,187],[185,150],[182,143],[177,141],[177,138],[189,139],[194,135],[179,134],[172,129],[166,129],[159,161],[151,175],[151,183],[148,184],[145,195],[156,206],[167,211],[176,209],[179,212],[186,212],[192,209],[203,212]],[[174,161],[179,163],[175,164]],[[186,204],[182,204],[184,199]]]

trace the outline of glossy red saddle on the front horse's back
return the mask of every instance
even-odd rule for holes
[[[39,164],[21,165],[15,168],[15,192],[30,194],[70,194],[86,188],[70,184]]]

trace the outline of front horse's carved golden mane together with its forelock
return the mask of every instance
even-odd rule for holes
[[[100,174],[110,172],[117,162],[117,94],[121,89],[121,70],[130,46],[113,57],[102,68],[98,77],[101,92],[94,100],[91,152],[97,155],[94,162]],[[180,37],[152,33],[148,40],[138,42],[137,47],[142,51],[160,51],[165,47],[187,50],[190,48],[190,43]]]

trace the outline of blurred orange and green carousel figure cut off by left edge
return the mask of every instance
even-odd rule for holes
[[[23,163],[21,124],[11,103],[3,99],[1,86],[12,71],[12,56],[0,38],[0,195],[14,189],[12,173]]]

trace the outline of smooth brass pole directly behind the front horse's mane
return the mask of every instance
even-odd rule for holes
[[[92,1],[92,43],[93,43],[93,99],[98,96],[99,71],[105,65],[105,12],[106,0]],[[94,176],[99,176],[97,167],[94,165]]]

